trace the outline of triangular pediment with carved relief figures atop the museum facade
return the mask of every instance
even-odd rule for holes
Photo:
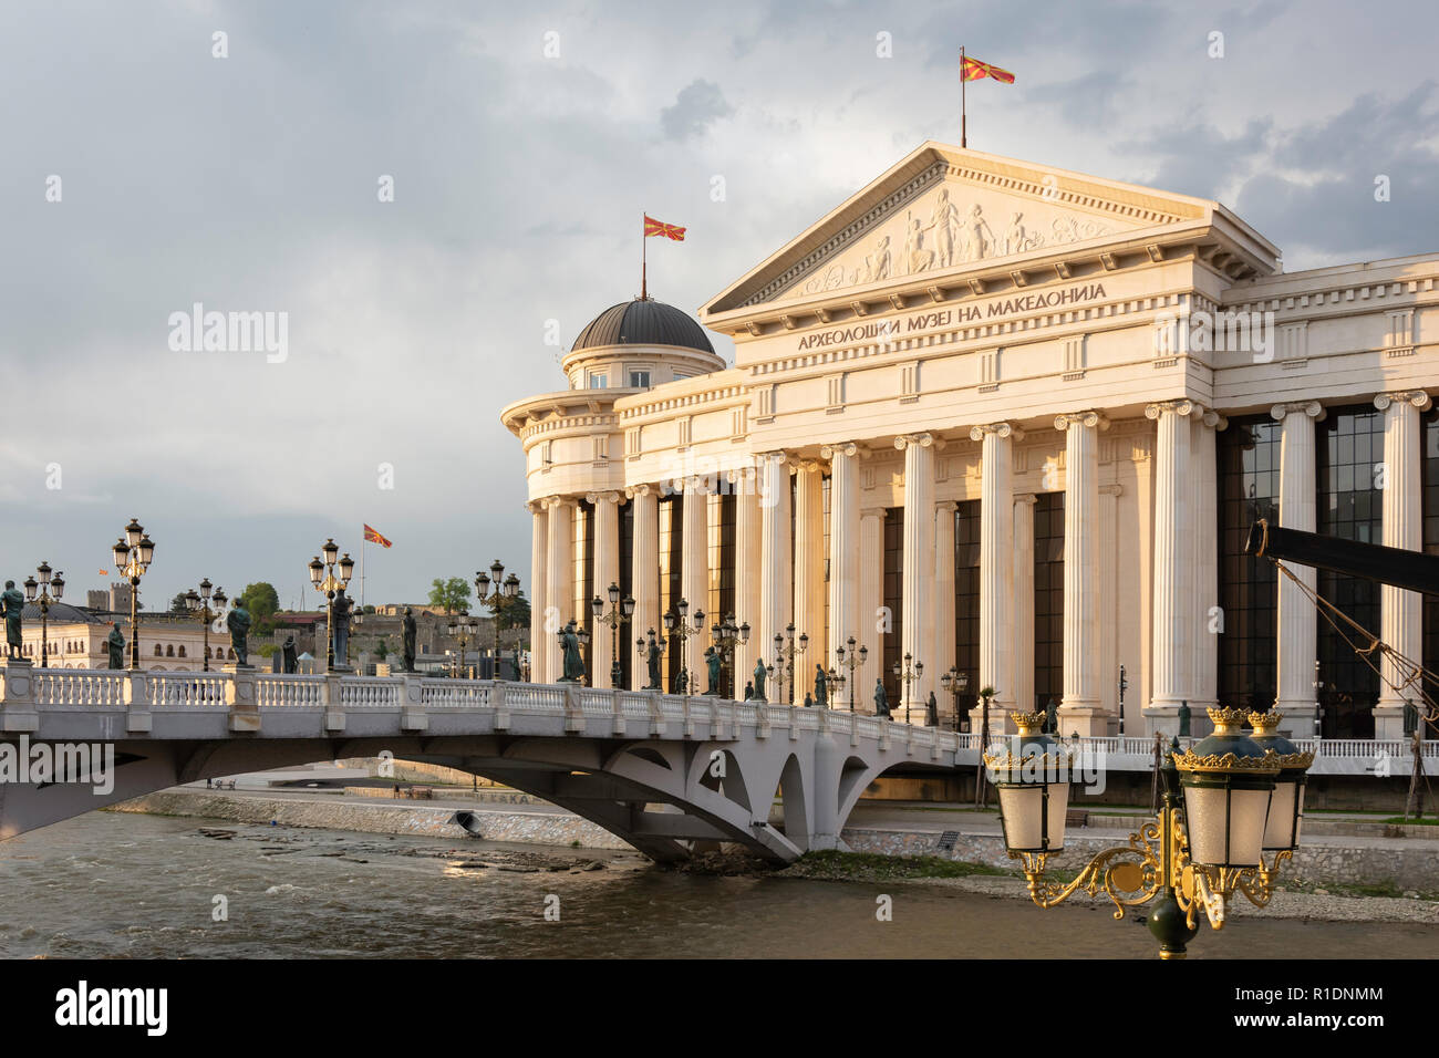
[[[1217,203],[928,143],[714,298],[784,307],[1204,222]]]

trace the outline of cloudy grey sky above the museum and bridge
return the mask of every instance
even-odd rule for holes
[[[528,587],[496,412],[563,387],[547,321],[567,347],[637,294],[643,210],[689,227],[650,292],[694,311],[957,143],[961,43],[1017,75],[971,85],[976,148],[1219,199],[1289,271],[1439,252],[1436,30],[1340,0],[7,0],[0,576],[45,559],[83,602],[138,517],[151,605],[204,576],[312,605],[311,556],[368,521],[367,602],[496,556]],[[171,348],[196,302],[286,314],[283,361]]]

